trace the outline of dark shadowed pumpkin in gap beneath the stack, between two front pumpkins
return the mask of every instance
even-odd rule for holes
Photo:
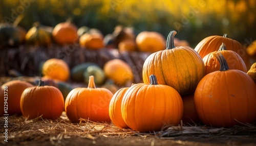
[[[183,124],[195,125],[200,122],[194,102],[194,93],[182,96],[183,102]]]

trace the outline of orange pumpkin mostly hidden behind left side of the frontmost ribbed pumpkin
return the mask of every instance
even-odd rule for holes
[[[110,101],[109,114],[113,124],[119,128],[129,128],[124,122],[121,112],[121,103],[123,95],[129,89],[129,87],[119,89],[112,97]]]

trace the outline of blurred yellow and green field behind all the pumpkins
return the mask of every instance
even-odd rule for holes
[[[192,47],[207,36],[227,33],[248,46],[256,37],[255,7],[255,0],[1,0],[0,20],[11,23],[23,15],[19,25],[28,30],[35,21],[54,27],[72,19],[77,27],[97,28],[104,35],[117,25],[136,33],[157,31],[165,38],[176,30],[176,37]]]

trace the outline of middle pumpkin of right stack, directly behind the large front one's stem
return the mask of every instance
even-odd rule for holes
[[[229,69],[238,69],[247,72],[247,68],[243,59],[236,52],[227,50],[226,45],[222,43],[218,51],[211,52],[203,58],[205,65],[205,75],[209,74],[210,72],[220,70],[220,63],[215,57],[216,53],[221,53],[224,56]]]

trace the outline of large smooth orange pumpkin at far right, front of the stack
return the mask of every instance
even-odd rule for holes
[[[220,70],[206,75],[195,91],[195,106],[202,123],[232,127],[256,120],[256,85],[243,71],[229,69],[221,53]]]

